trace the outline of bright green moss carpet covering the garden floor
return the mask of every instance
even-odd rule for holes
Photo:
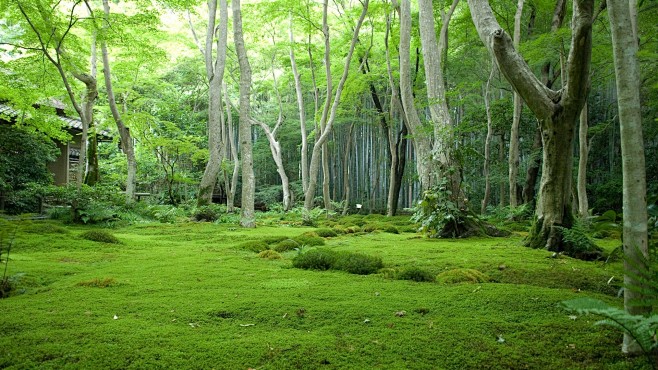
[[[314,230],[276,222],[105,229],[120,244],[81,237],[100,226],[6,223],[17,231],[7,266],[16,290],[0,300],[0,368],[649,368],[621,353],[619,332],[594,326],[600,317],[560,304],[587,296],[621,306],[619,261],[549,258],[524,248],[523,233],[437,240],[409,232],[408,217],[345,220],[406,228],[317,247],[381,257],[381,273],[301,270],[291,263],[299,251],[269,260],[240,247]],[[390,277],[411,266],[475,269],[489,281]]]

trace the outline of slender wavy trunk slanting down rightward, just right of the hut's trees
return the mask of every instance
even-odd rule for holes
[[[110,5],[108,0],[103,0],[103,9],[105,11],[105,23],[104,30],[107,31],[109,28],[109,18],[110,18]],[[119,136],[121,138],[121,150],[126,155],[126,160],[128,162],[128,176],[126,180],[126,202],[132,203],[135,201],[135,185],[137,180],[137,160],[135,159],[135,146],[133,139],[130,136],[130,129],[126,127],[117,108],[116,99],[114,96],[114,91],[112,90],[112,75],[110,72],[110,61],[107,52],[107,43],[106,37],[101,39],[101,53],[103,56],[103,76],[105,77],[105,89],[107,90],[107,100],[110,105],[110,111],[112,111],[112,117],[114,122],[116,122],[117,129],[119,130]]]

